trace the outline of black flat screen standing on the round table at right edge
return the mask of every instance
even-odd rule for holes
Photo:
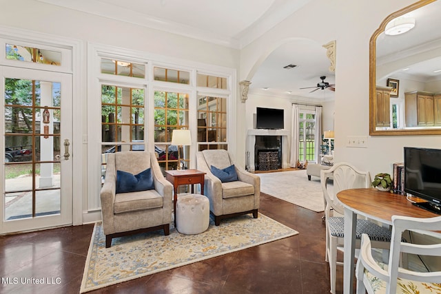
[[[416,206],[441,214],[441,149],[404,147],[404,191],[427,200]]]

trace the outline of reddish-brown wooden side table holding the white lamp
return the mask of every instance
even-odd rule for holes
[[[205,172],[197,169],[174,169],[165,171],[165,178],[173,184],[173,211],[174,211],[174,227],[176,227],[176,202],[178,201],[178,187],[181,185],[192,185],[192,193],[194,193],[194,185],[201,184],[201,194],[204,193]]]

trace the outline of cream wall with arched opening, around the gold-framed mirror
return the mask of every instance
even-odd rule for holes
[[[352,162],[371,172],[392,172],[403,160],[404,146],[435,147],[441,136],[369,136],[369,39],[392,12],[411,0],[316,0],[292,14],[240,52],[240,80],[287,39],[314,37],[325,44],[336,40],[335,132],[336,161]],[[367,136],[367,148],[346,146],[347,136]]]

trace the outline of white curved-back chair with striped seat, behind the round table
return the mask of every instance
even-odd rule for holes
[[[332,189],[328,186],[329,180],[334,179]],[[336,197],[339,191],[354,188],[371,187],[371,176],[369,171],[359,171],[347,162],[336,163],[331,169],[320,171],[320,182],[322,185],[325,203],[326,222],[326,255],[325,260],[329,262],[329,280],[331,293],[336,293],[336,267],[343,265],[337,261],[337,251],[343,251],[345,238],[344,209]],[[332,192],[331,192],[332,191]],[[356,247],[360,248],[362,233],[367,233],[373,241],[373,246],[380,249],[389,249],[391,231],[370,220],[358,219],[356,227]]]

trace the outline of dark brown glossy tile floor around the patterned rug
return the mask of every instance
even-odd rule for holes
[[[260,199],[260,213],[299,234],[90,293],[329,293],[322,213],[265,194]],[[92,229],[1,236],[0,293],[79,293]],[[342,293],[340,266],[336,288]]]

